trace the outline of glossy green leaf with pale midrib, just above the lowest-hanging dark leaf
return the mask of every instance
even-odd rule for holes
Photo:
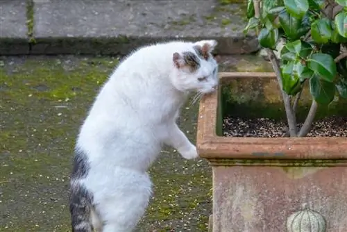
[[[337,74],[334,59],[329,54],[314,53],[307,59],[309,67],[317,76],[325,81],[332,82]]]

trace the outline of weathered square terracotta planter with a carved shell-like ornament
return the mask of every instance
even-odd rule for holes
[[[281,99],[273,73],[220,77],[219,91],[201,99],[196,142],[213,170],[210,231],[347,231],[347,138],[223,137],[223,85],[234,81],[237,92],[257,79],[262,97],[249,102]]]

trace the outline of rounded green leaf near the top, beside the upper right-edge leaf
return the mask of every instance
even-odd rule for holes
[[[311,35],[314,42],[325,44],[332,36],[330,20],[327,18],[318,19],[311,24]]]

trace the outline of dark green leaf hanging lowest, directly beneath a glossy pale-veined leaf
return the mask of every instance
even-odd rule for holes
[[[328,105],[335,97],[335,84],[313,76],[310,78],[310,92],[317,103]]]

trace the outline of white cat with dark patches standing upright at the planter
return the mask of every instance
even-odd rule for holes
[[[189,92],[214,92],[215,40],[137,49],[103,85],[81,127],[71,174],[72,231],[129,232],[151,196],[146,170],[163,144],[183,158],[196,147],[176,124]]]

